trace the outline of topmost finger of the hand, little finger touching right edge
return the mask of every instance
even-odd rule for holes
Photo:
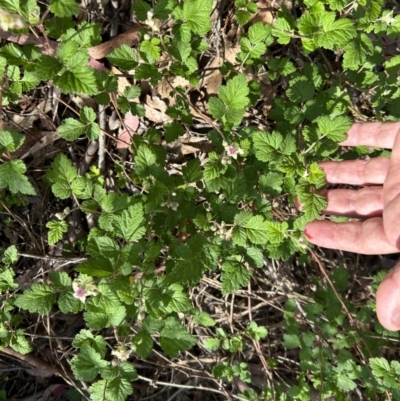
[[[355,123],[347,133],[343,146],[371,146],[392,149],[400,132],[400,122]]]

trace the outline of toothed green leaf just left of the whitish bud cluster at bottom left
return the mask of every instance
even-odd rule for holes
[[[93,380],[108,363],[90,345],[83,345],[78,355],[71,359],[71,368],[77,379]]]

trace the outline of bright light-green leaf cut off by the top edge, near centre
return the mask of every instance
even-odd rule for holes
[[[183,3],[183,19],[194,33],[205,35],[211,29],[212,8],[212,0],[186,0]]]

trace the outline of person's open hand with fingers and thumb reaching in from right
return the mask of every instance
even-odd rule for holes
[[[392,149],[392,154],[390,159],[320,163],[327,183],[361,187],[327,190],[324,213],[360,220],[314,220],[306,225],[304,235],[324,248],[366,255],[400,252],[400,122],[355,123],[340,145]],[[376,307],[383,327],[400,330],[400,263],[380,284]]]

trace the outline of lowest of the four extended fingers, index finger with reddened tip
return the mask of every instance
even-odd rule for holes
[[[324,248],[364,255],[399,252],[399,248],[388,241],[381,217],[348,223],[315,220],[306,225],[304,235],[311,243]]]

